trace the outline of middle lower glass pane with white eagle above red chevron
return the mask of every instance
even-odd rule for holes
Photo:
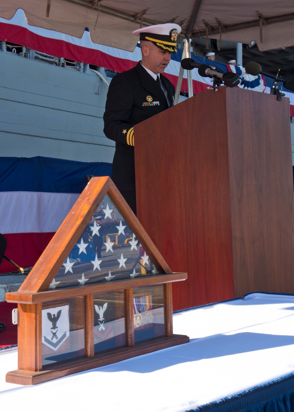
[[[94,295],[94,351],[126,346],[124,290]]]

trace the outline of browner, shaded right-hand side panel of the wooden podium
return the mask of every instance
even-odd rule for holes
[[[294,293],[289,99],[241,92],[226,104],[235,293]]]

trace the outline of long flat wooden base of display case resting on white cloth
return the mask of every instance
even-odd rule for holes
[[[110,365],[125,359],[133,358],[135,356],[144,355],[160,349],[165,349],[170,346],[181,345],[188,343],[189,337],[186,335],[173,335],[172,337],[163,337],[161,339],[152,340],[152,342],[145,342],[137,344],[132,348],[118,349],[108,352],[106,355],[97,355],[94,358],[82,358],[77,361],[68,362],[64,367],[61,365],[50,365],[39,372],[31,372],[29,370],[13,370],[6,374],[6,382],[19,385],[36,385],[42,382],[51,381],[67,375],[72,375],[85,370],[98,368],[100,366]]]

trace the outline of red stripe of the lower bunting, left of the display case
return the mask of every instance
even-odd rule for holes
[[[20,267],[26,268],[35,265],[44,249],[54,236],[53,233],[9,233],[3,234],[7,241],[5,256]],[[0,273],[14,272],[14,267],[3,259]]]

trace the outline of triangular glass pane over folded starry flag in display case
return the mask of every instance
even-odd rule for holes
[[[48,290],[159,274],[106,194]]]

